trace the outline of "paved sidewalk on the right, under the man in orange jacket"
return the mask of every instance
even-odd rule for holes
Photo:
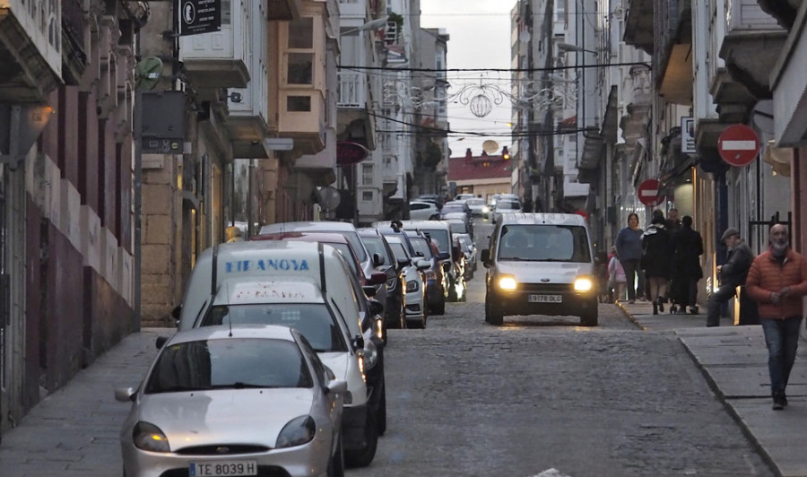
[[[734,326],[728,318],[719,327],[706,327],[700,315],[653,315],[649,302],[620,303],[641,328],[669,330],[689,351],[717,397],[740,423],[746,435],[784,477],[807,477],[807,343],[799,343],[787,385],[789,406],[771,409],[768,349],[759,325]],[[665,309],[665,311],[668,311]]]

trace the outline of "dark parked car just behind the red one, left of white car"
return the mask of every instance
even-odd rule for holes
[[[359,229],[359,237],[369,253],[378,254],[383,259],[383,263],[376,269],[386,274],[386,303],[384,305],[386,327],[403,328],[406,325],[404,267],[397,264],[392,248],[389,247],[380,231],[374,228]]]

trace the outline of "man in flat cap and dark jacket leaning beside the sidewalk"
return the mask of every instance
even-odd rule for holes
[[[737,287],[745,283],[748,269],[754,254],[751,248],[740,238],[740,230],[729,227],[723,232],[720,240],[728,247],[724,265],[717,266],[717,278],[720,288],[709,296],[707,303],[707,326],[720,325],[720,306],[732,299]]]

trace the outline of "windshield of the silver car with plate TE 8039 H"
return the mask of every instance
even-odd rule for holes
[[[297,344],[230,338],[170,344],[160,353],[145,394],[313,386]]]

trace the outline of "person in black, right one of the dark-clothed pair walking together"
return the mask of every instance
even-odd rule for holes
[[[703,278],[700,256],[703,255],[703,238],[692,230],[692,218],[684,215],[681,229],[672,234],[672,301],[670,312],[698,315],[698,281]]]

